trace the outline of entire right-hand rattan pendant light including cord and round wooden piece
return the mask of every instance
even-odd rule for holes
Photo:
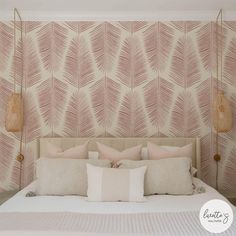
[[[218,162],[221,160],[219,154],[219,133],[228,132],[232,128],[232,110],[230,102],[223,91],[223,12],[219,11],[216,18],[216,94],[213,101],[213,125],[216,131],[216,189],[218,189]]]

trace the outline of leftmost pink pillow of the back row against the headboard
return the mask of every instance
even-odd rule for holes
[[[73,159],[88,159],[88,143],[78,145],[67,150],[47,142],[44,156],[47,158],[73,158]]]

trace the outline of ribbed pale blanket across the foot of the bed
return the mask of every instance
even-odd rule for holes
[[[208,236],[198,212],[83,214],[0,213],[0,235]],[[236,235],[236,220],[220,236]]]

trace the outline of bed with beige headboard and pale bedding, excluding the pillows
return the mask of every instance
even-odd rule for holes
[[[38,156],[44,155],[47,141],[64,149],[84,143],[84,138],[42,138]],[[124,149],[147,141],[160,145],[193,144],[192,163],[198,169],[193,182],[204,192],[193,195],[152,195],[144,202],[88,202],[81,196],[26,197],[35,182],[0,206],[0,235],[212,235],[200,224],[199,210],[211,199],[227,201],[200,180],[200,143],[197,138],[94,138],[89,150],[99,141]],[[227,201],[228,202],[228,201]],[[234,215],[236,209],[231,205]],[[236,235],[236,221],[219,235]]]

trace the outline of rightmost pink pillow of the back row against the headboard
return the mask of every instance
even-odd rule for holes
[[[193,147],[192,144],[188,144],[183,147],[169,147],[169,146],[157,146],[154,143],[148,142],[148,155],[150,160],[159,160],[163,158],[172,157],[189,157],[192,159]]]

